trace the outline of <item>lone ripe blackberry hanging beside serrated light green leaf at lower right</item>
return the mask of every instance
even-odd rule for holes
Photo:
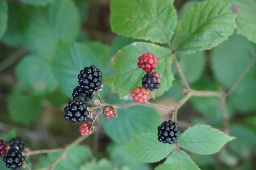
[[[178,124],[172,120],[164,121],[162,125],[157,127],[158,140],[163,143],[173,144],[180,136]]]

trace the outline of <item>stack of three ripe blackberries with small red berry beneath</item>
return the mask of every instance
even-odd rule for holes
[[[73,123],[86,122],[90,112],[87,103],[93,99],[93,94],[102,88],[102,72],[94,65],[85,67],[78,74],[78,84],[73,90],[73,100],[64,108],[65,119]],[[87,130],[86,130],[87,129]],[[88,135],[93,132],[93,127],[89,127],[89,122],[80,126],[81,135]]]

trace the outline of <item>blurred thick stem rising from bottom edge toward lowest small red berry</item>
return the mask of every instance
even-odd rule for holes
[[[43,167],[37,170],[48,170],[48,169],[54,169],[53,167],[55,167],[59,161],[61,161],[62,157],[67,153],[67,151],[69,151],[72,147],[76,146],[77,144],[81,143],[84,139],[86,139],[88,136],[80,136],[79,138],[77,138],[74,142],[72,142],[71,144],[69,144],[67,147],[64,148],[63,152],[61,153],[61,155],[49,166],[47,167]]]

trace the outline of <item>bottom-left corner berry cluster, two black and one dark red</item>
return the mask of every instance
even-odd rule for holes
[[[27,143],[20,137],[12,138],[9,142],[0,140],[0,157],[3,157],[6,167],[18,170],[25,161],[21,152],[26,147]]]

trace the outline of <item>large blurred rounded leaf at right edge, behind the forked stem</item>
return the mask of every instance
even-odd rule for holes
[[[230,36],[226,42],[212,50],[210,63],[213,75],[221,85],[227,88],[232,85],[251,62],[252,59],[248,54],[248,50],[255,54],[255,44],[236,33]],[[236,68],[236,71],[234,71],[234,68]],[[256,67],[253,66],[247,76],[255,75],[255,70]],[[244,89],[241,90],[244,92]]]

